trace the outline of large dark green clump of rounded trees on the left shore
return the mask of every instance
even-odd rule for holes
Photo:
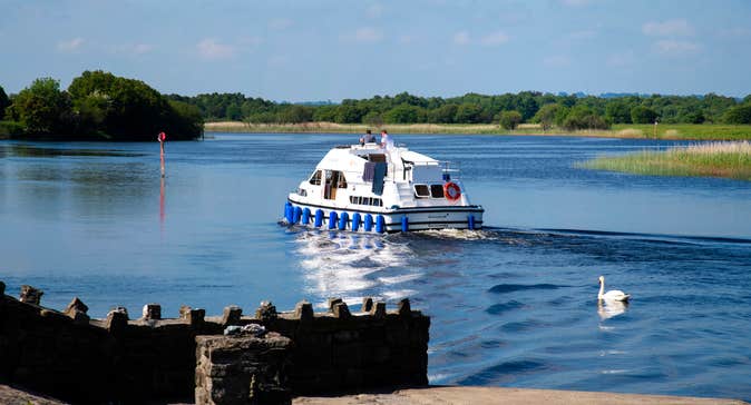
[[[67,90],[51,78],[35,80],[0,107],[0,136],[31,139],[169,140],[196,139],[203,118],[195,106],[167,99],[139,80],[85,71]]]

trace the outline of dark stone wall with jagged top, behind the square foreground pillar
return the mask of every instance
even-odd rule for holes
[[[71,402],[192,401],[196,336],[251,323],[292,340],[294,395],[427,384],[430,319],[406,299],[392,312],[371,299],[355,313],[341,299],[326,313],[306,302],[289,313],[264,303],[254,316],[236,306],[216,317],[183,307],[174,319],[149,304],[136,319],[125,308],[90,319],[78,298],[58,312],[40,306],[32,287],[19,299],[4,295],[2,281],[0,296],[0,383]]]

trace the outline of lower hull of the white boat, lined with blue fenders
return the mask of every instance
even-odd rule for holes
[[[308,209],[308,215],[302,214],[305,209]],[[315,213],[318,210],[322,211],[322,220],[316,227]],[[333,217],[332,213],[334,213]],[[411,207],[379,211],[318,206],[289,199],[284,217],[286,223],[321,229],[362,233],[377,233],[380,229],[384,233],[398,233],[428,229],[481,229],[484,213],[485,209],[480,206]],[[357,219],[355,214],[358,214]],[[370,229],[365,228],[367,216],[372,218],[373,226]],[[381,227],[377,227],[379,216],[383,217]],[[342,219],[342,217],[345,219]],[[334,219],[332,220],[332,218]]]

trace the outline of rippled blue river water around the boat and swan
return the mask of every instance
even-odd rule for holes
[[[353,235],[279,225],[342,135],[158,145],[0,142],[0,279],[94,316],[160,303],[410,297],[432,384],[751,399],[751,185],[575,168],[681,142],[397,136],[461,165],[481,231]],[[598,307],[597,277],[633,295]],[[393,306],[391,306],[393,308]]]

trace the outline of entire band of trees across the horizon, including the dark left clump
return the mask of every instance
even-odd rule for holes
[[[17,95],[0,87],[0,136],[59,139],[195,139],[204,120],[248,124],[494,124],[514,129],[606,129],[613,124],[751,124],[751,96],[621,95],[595,97],[521,91],[487,96],[419,97],[408,92],[341,103],[274,102],[242,93],[163,96],[143,81],[85,71],[61,90],[51,78]]]

